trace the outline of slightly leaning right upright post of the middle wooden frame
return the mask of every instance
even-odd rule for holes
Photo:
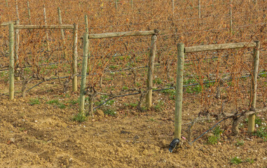
[[[154,62],[156,57],[156,41],[157,36],[153,34],[151,37],[151,46],[149,54],[149,69],[147,73],[146,80],[146,108],[149,109],[152,106],[152,87],[153,87],[153,71],[154,71]]]

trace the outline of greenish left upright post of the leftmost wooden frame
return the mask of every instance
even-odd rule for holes
[[[9,25],[9,99],[14,99],[14,24]]]

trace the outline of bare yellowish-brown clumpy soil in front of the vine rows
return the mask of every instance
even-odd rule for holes
[[[170,153],[168,146],[174,138],[173,107],[143,112],[133,107],[122,108],[116,116],[97,114],[78,123],[72,120],[78,112],[77,104],[66,103],[66,108],[60,108],[48,104],[49,97],[37,96],[38,93],[29,92],[26,98],[13,101],[1,94],[1,167],[267,167],[266,139],[247,134],[247,126],[234,136],[230,121],[221,123],[224,132],[217,144],[207,142],[212,134],[209,133],[189,145],[187,123],[200,109],[192,99],[184,99],[185,139]],[[50,98],[52,94],[57,94],[60,100],[78,97],[78,92],[69,96],[54,90]],[[31,103],[32,97],[39,97],[39,104]],[[260,117],[266,118],[266,113]],[[212,125],[212,121],[196,125],[193,137]],[[234,158],[242,162],[235,165]]]

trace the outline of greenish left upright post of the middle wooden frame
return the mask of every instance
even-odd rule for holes
[[[87,61],[88,61],[88,46],[89,46],[89,39],[88,33],[83,35],[83,64],[81,67],[81,88],[80,88],[80,106],[79,112],[85,113],[84,111],[84,102],[85,102],[85,83],[86,83],[86,70],[87,70]]]

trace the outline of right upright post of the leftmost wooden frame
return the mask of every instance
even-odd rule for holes
[[[74,45],[73,45],[73,55],[72,55],[72,91],[76,92],[78,90],[77,86],[77,57],[78,57],[78,25],[74,24]]]

